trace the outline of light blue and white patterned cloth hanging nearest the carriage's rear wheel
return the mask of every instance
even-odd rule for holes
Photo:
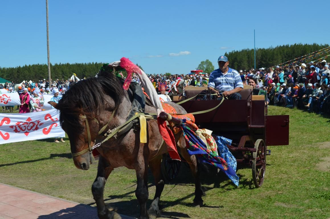
[[[233,140],[230,140],[230,139],[222,137],[222,136],[216,136],[216,138],[217,138],[217,140],[215,140],[215,142],[218,147],[219,157],[224,159],[227,162],[228,166],[230,166],[236,172],[236,167],[237,167],[236,158],[234,157],[234,155],[232,155],[232,153],[230,153],[230,151],[226,145],[226,144],[231,145]],[[236,175],[236,177],[232,177],[232,176],[228,176],[228,177],[235,183],[235,185],[238,186],[239,178],[237,175]]]

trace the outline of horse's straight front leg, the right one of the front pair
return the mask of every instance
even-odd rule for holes
[[[149,219],[147,212],[147,200],[149,197],[148,192],[148,147],[145,144],[140,144],[139,153],[137,157],[137,164],[135,167],[137,188],[135,196],[140,205],[140,219]]]

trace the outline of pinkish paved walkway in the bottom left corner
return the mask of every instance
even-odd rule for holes
[[[132,217],[121,215],[123,219]],[[0,219],[96,219],[95,207],[0,183]]]

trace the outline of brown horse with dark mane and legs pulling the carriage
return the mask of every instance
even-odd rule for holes
[[[88,170],[91,163],[91,153],[88,148],[104,140],[104,132],[99,130],[106,126],[113,129],[125,123],[131,108],[130,91],[124,91],[122,81],[113,75],[109,69],[101,71],[95,78],[79,81],[70,88],[58,102],[49,102],[60,110],[60,122],[70,139],[74,164],[78,169]],[[169,103],[178,113],[185,110],[174,103]],[[146,106],[146,113],[156,113],[154,107]],[[112,115],[114,114],[114,115]],[[111,121],[109,122],[111,118]],[[109,122],[109,124],[108,124]],[[108,124],[108,125],[107,125]],[[135,128],[137,129],[137,128]],[[197,160],[189,156],[185,149],[182,133],[175,135],[178,151],[189,163],[195,177],[195,205],[202,205],[203,191],[199,180]],[[162,137],[157,121],[147,122],[147,143],[140,143],[139,130],[130,129],[126,133],[110,138],[99,147],[100,153],[96,179],[92,185],[92,194],[97,205],[99,218],[120,218],[115,211],[109,211],[103,199],[103,191],[109,174],[116,167],[125,166],[135,169],[137,188],[135,195],[140,204],[140,218],[156,218],[160,216],[159,199],[164,188],[161,174],[162,154],[167,152],[166,146],[161,147]],[[94,149],[95,150],[95,149]],[[85,152],[84,152],[85,151]],[[156,192],[149,210],[148,200],[148,166],[155,179]]]

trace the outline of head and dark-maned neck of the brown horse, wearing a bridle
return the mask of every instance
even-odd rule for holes
[[[122,98],[121,82],[105,70],[98,77],[72,86],[58,104],[49,102],[60,111],[60,123],[70,139],[73,161],[78,169],[89,169],[91,147],[99,136],[99,130],[109,125],[112,111],[119,106]]]

